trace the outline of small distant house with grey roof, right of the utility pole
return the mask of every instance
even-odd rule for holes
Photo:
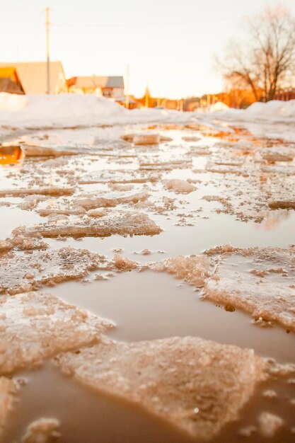
[[[98,94],[108,98],[124,96],[122,76],[80,76],[66,81],[71,93]]]

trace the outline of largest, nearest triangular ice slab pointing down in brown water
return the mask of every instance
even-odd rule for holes
[[[191,337],[137,343],[103,338],[79,355],[67,352],[55,360],[83,384],[141,405],[202,440],[236,420],[264,378],[252,350]]]

